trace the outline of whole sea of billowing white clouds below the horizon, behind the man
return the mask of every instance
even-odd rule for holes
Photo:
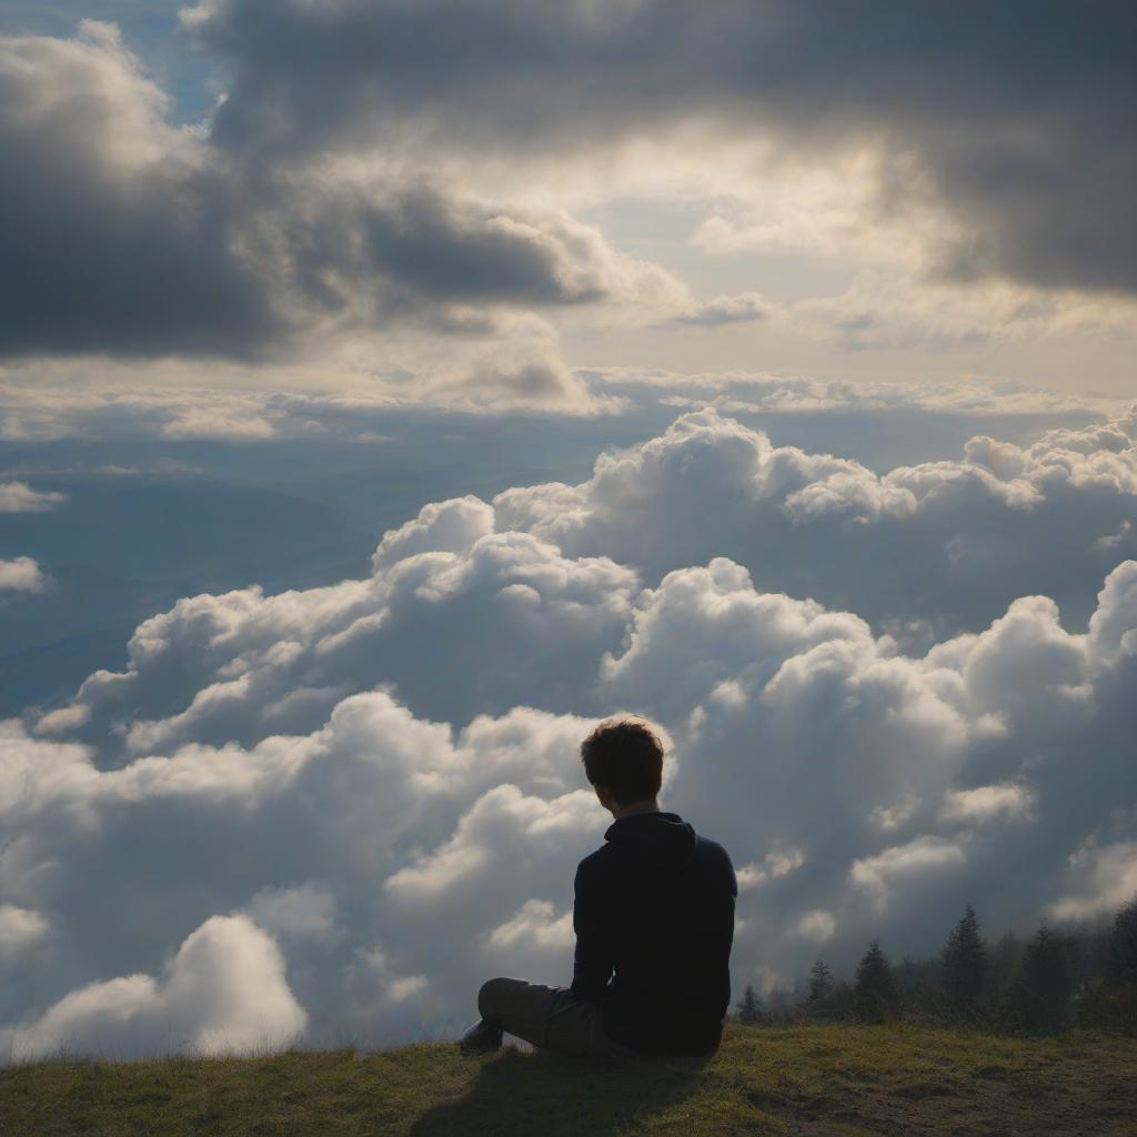
[[[492,974],[567,982],[578,747],[623,711],[735,860],[738,988],[964,903],[1109,913],[1135,520],[1135,412],[879,474],[708,407],[426,505],[359,579],[182,599],[0,723],[0,1055],[446,1036]]]

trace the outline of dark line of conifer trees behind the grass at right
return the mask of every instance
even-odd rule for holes
[[[995,943],[968,905],[938,956],[893,963],[873,940],[850,979],[819,958],[792,991],[773,987],[763,996],[747,986],[731,1018],[746,1026],[905,1020],[1009,1034],[1137,1034],[1137,897],[1111,923],[1043,921],[1030,939],[1009,931]]]

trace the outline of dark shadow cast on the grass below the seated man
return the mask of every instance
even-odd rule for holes
[[[692,1094],[709,1059],[620,1064],[507,1048],[482,1065],[473,1088],[424,1113],[412,1137],[608,1137]]]

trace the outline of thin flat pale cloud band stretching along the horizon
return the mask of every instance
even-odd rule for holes
[[[1103,416],[1113,418],[1127,406],[1122,399],[1061,395],[1012,382],[850,383],[740,372],[570,370],[547,329],[537,327],[528,332],[518,329],[504,347],[460,352],[437,367],[367,372],[363,377],[352,368],[321,373],[321,387],[329,390],[305,388],[313,380],[310,368],[304,374],[292,367],[269,370],[258,380],[249,371],[213,366],[224,385],[202,388],[200,374],[189,364],[167,360],[147,365],[144,372],[140,365],[107,365],[97,391],[75,385],[70,367],[45,360],[0,368],[0,440],[259,442],[334,437],[375,441],[377,435],[397,431],[400,416],[429,414],[432,408],[463,414],[549,410],[630,420],[637,412],[655,418],[657,406],[662,406],[714,407],[724,416],[810,415],[819,428],[814,431],[821,440],[818,445],[830,438],[846,446],[854,441],[849,431],[840,428],[841,416],[856,416],[861,424],[868,416],[874,424],[889,415],[905,416],[889,433],[903,435],[896,442],[905,453],[923,455],[935,416],[968,416],[973,420],[971,430],[1001,425],[988,425],[986,420],[990,418],[1039,416],[1037,429],[1041,429],[1048,423],[1077,425]],[[158,377],[165,385],[156,385]],[[825,418],[832,421],[831,429],[825,428]],[[958,430],[965,429],[961,423]],[[889,451],[879,433],[879,429],[874,431],[862,448],[887,460]],[[596,443],[590,445],[595,449]],[[25,489],[14,491],[17,501],[26,497]],[[42,492],[33,498],[44,498],[44,505],[58,504]],[[0,487],[0,509],[3,501]]]

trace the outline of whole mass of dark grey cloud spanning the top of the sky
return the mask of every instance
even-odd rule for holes
[[[0,354],[255,358],[598,301],[733,322],[562,213],[443,180],[455,157],[555,161],[692,122],[814,159],[877,147],[882,217],[932,201],[961,223],[933,250],[943,276],[1131,292],[1135,18],[1105,2],[219,0],[184,16],[229,70],[208,130],[172,126],[110,25],[6,36]],[[390,161],[355,184],[329,152]]]

